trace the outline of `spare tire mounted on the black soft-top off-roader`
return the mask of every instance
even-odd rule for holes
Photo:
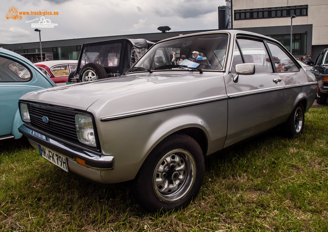
[[[80,82],[107,78],[106,70],[96,63],[89,63],[82,67],[79,73]]]

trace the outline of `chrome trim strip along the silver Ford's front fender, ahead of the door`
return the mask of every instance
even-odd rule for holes
[[[203,104],[203,103],[219,101],[219,100],[224,100],[224,99],[228,99],[228,96],[217,96],[217,97],[210,98],[210,99],[182,103],[182,104],[177,104],[177,105],[173,105],[173,106],[161,107],[161,108],[145,110],[145,111],[132,112],[132,113],[127,113],[127,114],[114,115],[114,116],[101,118],[100,121],[112,121],[112,120],[117,120],[117,119],[122,119],[122,118],[129,118],[129,117],[135,117],[135,116],[140,116],[140,115],[145,115],[145,114],[152,114],[152,113],[156,113],[156,112],[160,112],[160,111],[179,109],[179,108],[183,108],[183,107],[195,106],[197,104]]]

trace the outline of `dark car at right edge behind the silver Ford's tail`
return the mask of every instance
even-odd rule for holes
[[[318,81],[318,104],[327,103],[328,96],[328,48],[322,50],[314,62],[311,72],[316,76]]]

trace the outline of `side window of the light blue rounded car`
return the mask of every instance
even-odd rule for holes
[[[0,82],[22,82],[31,79],[30,70],[11,59],[0,57]]]

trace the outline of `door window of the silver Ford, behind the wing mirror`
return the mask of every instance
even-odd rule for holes
[[[245,63],[254,63],[255,73],[272,73],[272,66],[266,61],[269,58],[263,41],[237,39]]]

